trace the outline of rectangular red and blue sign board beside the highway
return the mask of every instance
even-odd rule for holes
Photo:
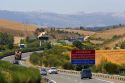
[[[95,50],[72,50],[72,64],[95,64]]]

